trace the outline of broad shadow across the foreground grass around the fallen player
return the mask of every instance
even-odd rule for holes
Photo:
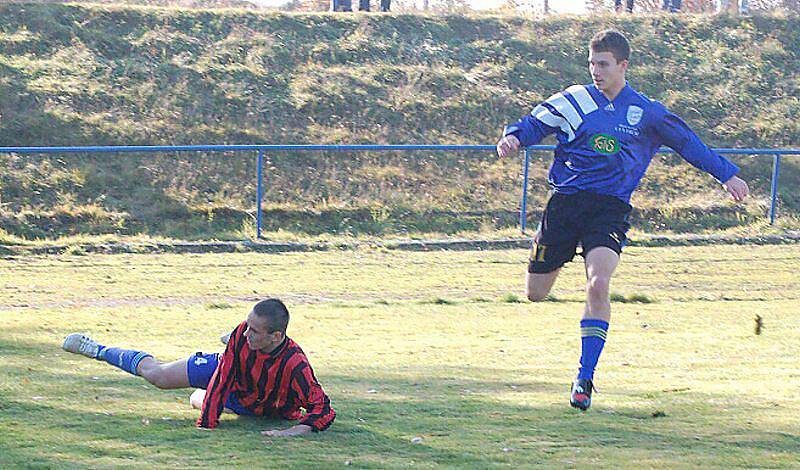
[[[720,427],[718,421],[726,418],[709,403],[724,401],[722,396],[682,393],[680,401],[670,402],[674,394],[664,395],[665,416],[634,406],[600,405],[579,413],[563,402],[562,383],[509,380],[507,370],[451,365],[410,365],[393,372],[365,367],[320,377],[338,417],[329,431],[310,438],[267,439],[259,431],[289,423],[235,416],[225,416],[217,430],[203,431],[194,427],[197,412],[175,402],[187,403],[188,390],[160,391],[111,366],[97,380],[71,361],[59,370],[59,362],[42,359],[58,347],[0,339],[4,357],[30,358],[27,365],[0,364],[0,376],[12,384],[0,387],[4,467],[131,462],[283,467],[353,460],[367,467],[424,462],[484,468],[555,465],[556,457],[599,448],[613,449],[629,462],[674,452],[672,462],[756,465],[760,458],[791,459],[800,449],[800,437],[767,427],[735,420]],[[20,378],[27,385],[13,386]],[[31,397],[40,390],[47,397]],[[746,400],[726,403],[741,416],[757,406]],[[164,414],[169,419],[162,419]]]

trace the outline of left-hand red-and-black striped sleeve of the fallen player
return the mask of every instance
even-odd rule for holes
[[[246,328],[247,322],[242,322],[233,331],[228,341],[228,346],[220,358],[219,365],[214,371],[214,375],[211,376],[206,389],[206,397],[203,400],[203,409],[200,413],[200,418],[197,420],[198,427],[213,429],[219,424],[219,417],[236,378],[236,368],[239,361],[238,354]]]

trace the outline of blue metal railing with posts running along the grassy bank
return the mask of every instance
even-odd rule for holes
[[[553,150],[553,145],[533,145],[522,149],[523,155],[523,180],[522,197],[520,203],[520,229],[525,233],[528,213],[528,167],[530,165],[531,151]],[[270,151],[410,151],[410,150],[435,150],[435,151],[490,151],[494,152],[494,145],[126,145],[126,146],[84,146],[84,147],[0,147],[0,154],[48,154],[48,153],[124,153],[124,152],[258,152],[256,157],[256,236],[261,238],[262,214],[261,202],[263,199],[264,178],[264,153]],[[780,164],[782,155],[800,155],[800,149],[714,149],[720,154],[728,155],[773,155],[772,181],[770,184],[769,222],[775,223],[775,212],[778,201],[778,181],[780,178]],[[674,153],[673,150],[663,148],[662,153]]]

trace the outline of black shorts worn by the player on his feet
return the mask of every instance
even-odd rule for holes
[[[622,253],[631,209],[630,204],[614,196],[586,191],[554,193],[531,245],[528,272],[555,271],[572,261],[578,243],[583,247],[583,257],[598,246]]]

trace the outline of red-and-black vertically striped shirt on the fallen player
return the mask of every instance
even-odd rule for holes
[[[246,329],[247,322],[242,322],[231,335],[208,383],[197,426],[217,427],[228,394],[235,393],[239,403],[258,416],[301,419],[300,424],[315,431],[327,429],[336,413],[300,346],[286,337],[270,353],[252,350],[244,337]]]

